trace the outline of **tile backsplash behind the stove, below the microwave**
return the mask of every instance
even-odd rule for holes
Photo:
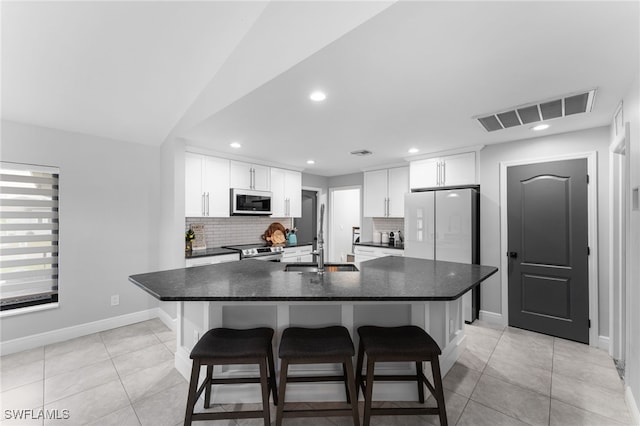
[[[285,228],[293,226],[291,218],[263,216],[188,217],[185,220],[185,231],[189,229],[191,224],[202,223],[207,247],[253,244],[263,242],[260,236],[273,222],[281,223]]]

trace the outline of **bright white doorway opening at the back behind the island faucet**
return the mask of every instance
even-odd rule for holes
[[[360,227],[359,186],[329,189],[329,262],[346,262],[353,249],[353,228]]]

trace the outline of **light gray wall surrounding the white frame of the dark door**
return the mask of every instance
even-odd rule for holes
[[[609,128],[489,145],[480,152],[481,263],[500,267],[500,162],[597,151],[598,159],[598,317],[599,335],[609,335]],[[592,181],[593,182],[593,181]],[[481,310],[502,315],[500,274],[483,282]]]

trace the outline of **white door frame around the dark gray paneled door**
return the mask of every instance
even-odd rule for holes
[[[507,235],[507,167],[524,166],[528,164],[548,163],[562,160],[587,160],[587,173],[589,185],[587,185],[588,205],[588,244],[591,255],[589,265],[589,345],[608,349],[608,342],[599,342],[598,330],[598,153],[597,151],[579,152],[573,154],[559,154],[549,157],[531,158],[526,160],[512,160],[500,162],[500,280],[502,284],[502,318],[504,325],[509,325],[509,274],[508,259],[508,235]]]

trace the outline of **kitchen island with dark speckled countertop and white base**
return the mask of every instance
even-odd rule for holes
[[[189,377],[189,353],[210,328],[269,326],[276,330],[277,349],[282,331],[290,326],[320,327],[342,324],[357,345],[361,325],[423,327],[442,349],[443,375],[466,345],[460,297],[497,272],[497,268],[401,256],[363,262],[359,271],[285,272],[285,263],[242,260],[133,275],[129,280],[162,301],[178,303],[176,368]],[[277,354],[277,351],[276,351]],[[277,357],[277,355],[276,355]],[[327,373],[327,365],[299,366],[300,372]],[[337,366],[335,368],[338,368]],[[219,368],[230,377],[247,374],[247,366]],[[304,370],[302,370],[304,369]],[[386,373],[406,374],[409,363],[381,366]],[[295,370],[294,370],[295,371]],[[330,374],[335,374],[331,372]],[[340,384],[298,384],[291,400],[336,400]],[[219,402],[259,401],[258,387],[237,386],[215,395]],[[376,398],[414,399],[415,384],[381,383]],[[289,399],[288,399],[289,400]]]

